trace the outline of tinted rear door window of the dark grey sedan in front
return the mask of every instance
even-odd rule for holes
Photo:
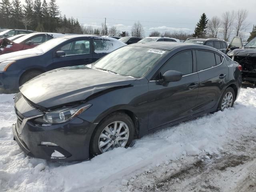
[[[216,66],[214,53],[208,51],[197,51],[196,64],[197,71]]]

